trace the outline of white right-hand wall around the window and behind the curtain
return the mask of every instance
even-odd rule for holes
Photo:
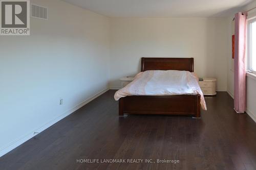
[[[251,4],[241,8],[238,12],[243,12],[248,9],[256,7],[256,2],[252,2]],[[256,10],[252,10],[248,13],[248,18],[255,17]],[[231,35],[234,34],[234,22],[232,21],[233,16],[230,17],[228,20],[228,37],[229,37],[229,55],[228,55],[228,77],[227,77],[227,91],[233,97],[234,94],[234,60],[231,59]],[[255,76],[247,76],[247,110],[246,112],[251,116],[251,118],[256,122],[256,107],[255,107],[255,100],[256,100],[256,77]]]

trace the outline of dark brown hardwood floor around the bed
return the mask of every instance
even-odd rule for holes
[[[0,158],[0,169],[256,169],[256,124],[226,92],[201,119],[118,117],[110,90]],[[178,159],[180,163],[77,163],[77,159]]]

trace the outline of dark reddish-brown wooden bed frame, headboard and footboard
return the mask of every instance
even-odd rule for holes
[[[141,71],[186,70],[194,72],[194,58],[141,58]],[[200,118],[200,95],[126,96],[119,100],[119,116],[174,114]]]

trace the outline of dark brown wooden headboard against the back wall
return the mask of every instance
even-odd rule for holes
[[[185,70],[194,72],[194,58],[141,58],[141,71]]]

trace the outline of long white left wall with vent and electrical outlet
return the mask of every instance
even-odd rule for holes
[[[0,156],[108,88],[109,18],[31,3],[48,7],[49,19],[31,18],[31,36],[0,37]]]

